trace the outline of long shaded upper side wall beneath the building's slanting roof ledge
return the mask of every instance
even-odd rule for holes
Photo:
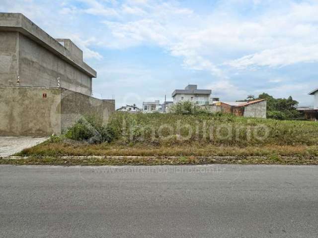
[[[91,78],[36,42],[19,33],[21,86],[60,87],[91,95]]]

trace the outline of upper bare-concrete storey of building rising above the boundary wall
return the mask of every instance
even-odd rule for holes
[[[19,13],[0,13],[0,85],[63,87],[91,95],[96,71],[68,39],[53,39]]]

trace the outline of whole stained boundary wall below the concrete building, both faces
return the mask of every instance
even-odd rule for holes
[[[0,86],[0,135],[60,134],[84,115],[106,122],[114,111],[114,100],[63,88]]]

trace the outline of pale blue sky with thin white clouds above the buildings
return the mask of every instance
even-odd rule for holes
[[[1,0],[0,12],[75,42],[97,71],[93,95],[116,108],[187,84],[310,106],[318,88],[318,0]]]

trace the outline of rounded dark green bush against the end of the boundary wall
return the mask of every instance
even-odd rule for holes
[[[113,140],[114,131],[103,125],[102,120],[98,117],[85,116],[67,129],[65,137],[88,143],[104,143]]]

